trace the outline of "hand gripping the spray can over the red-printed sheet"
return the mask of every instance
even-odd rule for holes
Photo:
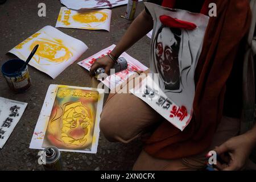
[[[90,76],[94,76],[94,71],[96,71],[98,68],[104,68],[105,73],[109,75],[109,71],[113,65],[114,61],[108,55],[101,57],[97,59],[90,67]]]

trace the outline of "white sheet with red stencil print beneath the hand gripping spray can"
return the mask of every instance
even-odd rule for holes
[[[96,61],[96,59],[103,57],[107,55],[109,52],[111,52],[114,49],[115,45],[113,44],[112,46],[103,49],[102,51],[94,54],[93,56],[88,57],[85,60],[80,61],[79,65],[87,69],[88,71],[90,70],[90,66]],[[130,55],[128,55],[126,52],[123,52],[121,56],[119,57],[124,57],[128,63],[128,68],[125,71],[115,73],[114,75],[110,75],[106,77],[104,81],[104,85],[108,86],[110,89],[114,89],[115,86],[118,86],[122,84],[123,81],[125,81],[129,76],[133,75],[135,72],[134,71],[146,71],[148,68],[145,67],[143,64],[141,64],[138,60],[134,59]]]

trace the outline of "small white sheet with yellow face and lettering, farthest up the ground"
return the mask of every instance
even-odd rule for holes
[[[109,31],[111,14],[108,9],[75,11],[61,7],[55,27]]]

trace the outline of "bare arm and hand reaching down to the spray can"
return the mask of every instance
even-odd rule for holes
[[[122,39],[118,42],[117,46],[113,49],[112,55],[119,57],[128,48],[133,46],[139,39],[146,35],[153,28],[153,20],[151,15],[148,15],[145,10],[140,13],[137,18],[131,23],[130,27],[123,35]],[[113,60],[109,56],[97,59],[90,68],[90,75],[94,75],[97,68],[104,68],[105,73],[109,73],[113,67]]]

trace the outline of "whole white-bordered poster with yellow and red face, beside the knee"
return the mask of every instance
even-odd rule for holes
[[[103,98],[102,89],[50,85],[30,148],[96,153]]]

